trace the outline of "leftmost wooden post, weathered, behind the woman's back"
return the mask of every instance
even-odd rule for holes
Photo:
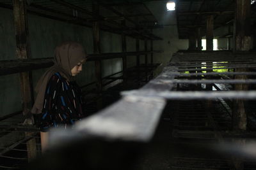
[[[25,0],[13,0],[13,16],[16,34],[16,55],[20,60],[30,58],[30,46],[28,41],[28,20],[26,13],[26,1]],[[33,84],[32,73],[24,72],[20,73],[20,89],[22,94],[22,109],[23,114],[29,113],[29,110],[33,104]],[[32,125],[32,121],[26,121],[25,124]],[[33,133],[25,132],[26,136],[31,136]],[[30,139],[27,142],[28,160],[36,157],[36,140]]]

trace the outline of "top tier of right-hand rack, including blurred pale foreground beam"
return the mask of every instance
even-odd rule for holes
[[[236,64],[236,62],[246,62],[248,64],[243,65],[243,68],[253,69],[255,67],[253,66],[253,62],[256,61],[253,56],[255,55],[234,55],[232,53],[226,52],[192,54],[176,53],[173,55],[170,64],[164,67],[163,72],[159,74],[159,76],[157,76],[154,80],[149,81],[141,89],[122,92],[123,97],[120,99],[120,101],[109,106],[106,108],[106,110],[100,111],[97,115],[81,121],[81,123],[74,128],[74,131],[79,131],[81,133],[90,131],[92,134],[99,135],[104,138],[149,141],[154,135],[154,130],[156,129],[159,117],[167,99],[256,99],[255,90],[242,92],[237,92],[235,90],[221,90],[218,92],[211,90],[207,91],[203,88],[203,90],[190,89],[189,91],[177,91],[177,86],[180,83],[190,83],[187,80],[181,81],[179,78],[182,78],[182,76],[189,76],[189,80],[195,84],[201,84],[202,87],[204,84],[214,83],[217,85],[223,83],[250,83],[251,85],[252,83],[255,83],[255,79],[253,79],[253,77],[250,78],[250,81],[248,82],[234,79],[225,80],[220,75],[227,74],[227,76],[230,78],[232,78],[232,75],[235,74],[254,75],[255,73],[253,70],[250,72],[234,72],[234,70],[228,70],[227,72],[222,73],[204,73],[204,71],[209,69],[204,67],[207,65],[207,67],[211,67],[211,70],[236,69],[237,67],[243,65],[240,63]],[[195,62],[202,66],[195,66]],[[204,62],[207,62],[207,64]],[[215,62],[220,64],[220,66],[214,66]],[[228,66],[223,68],[221,64]],[[189,71],[193,73],[185,73],[188,67],[195,67],[193,69],[189,69]],[[200,73],[198,73],[198,71],[200,71]],[[200,80],[198,79],[197,75],[200,76],[200,79],[211,75],[218,77],[219,80]],[[123,124],[125,124],[125,126],[120,127],[120,125]],[[109,125],[111,125],[111,127],[109,127]],[[118,131],[116,129],[118,129]]]

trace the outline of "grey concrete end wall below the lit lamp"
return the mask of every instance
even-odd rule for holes
[[[157,75],[168,64],[173,53],[188,49],[188,39],[179,39],[176,11],[167,11],[166,1],[151,1],[146,5],[156,17],[158,24],[164,25],[163,29],[153,30],[153,34],[163,38],[163,40],[157,40],[153,43],[154,50],[163,50],[163,53],[154,53],[154,62],[163,63],[156,70],[155,74]]]

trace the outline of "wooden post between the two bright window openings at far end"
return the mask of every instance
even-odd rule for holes
[[[206,25],[206,50],[213,50],[213,15],[207,16],[207,25]]]

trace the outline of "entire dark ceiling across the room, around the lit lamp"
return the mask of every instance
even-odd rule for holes
[[[152,34],[152,29],[162,28],[164,25],[177,25],[180,39],[188,39],[191,31],[195,31],[198,27],[201,28],[204,36],[208,15],[214,15],[214,29],[232,25],[234,19],[235,0],[175,0],[176,11],[166,11],[167,2],[166,0],[27,0],[28,12],[33,15],[87,27],[92,27],[93,22],[99,21],[100,29],[103,31],[124,33],[140,39],[162,39]],[[252,5],[253,20],[255,20],[255,6],[256,3]],[[12,8],[12,0],[1,0],[0,7]]]

